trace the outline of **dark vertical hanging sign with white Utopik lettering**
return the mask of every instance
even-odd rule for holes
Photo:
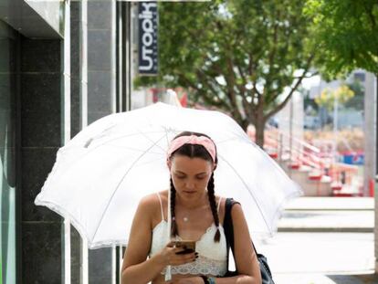
[[[157,75],[157,3],[141,2],[138,5],[138,71],[141,75]]]

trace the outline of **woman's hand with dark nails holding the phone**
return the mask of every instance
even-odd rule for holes
[[[188,262],[194,262],[197,258],[197,253],[185,253],[185,254],[177,254],[179,252],[184,251],[184,247],[173,247],[173,243],[168,243],[159,253],[160,262],[164,265],[182,265]],[[195,282],[194,282],[195,283]],[[201,283],[201,282],[199,282]]]

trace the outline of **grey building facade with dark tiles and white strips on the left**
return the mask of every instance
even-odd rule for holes
[[[114,251],[34,199],[58,148],[130,98],[130,3],[1,2],[0,283],[110,283]]]

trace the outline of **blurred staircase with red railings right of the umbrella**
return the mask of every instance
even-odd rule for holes
[[[285,135],[277,128],[269,129],[264,150],[301,186],[305,196],[362,196],[357,166],[338,163],[334,152],[321,152],[297,138],[291,139],[290,146],[283,146],[283,139],[289,139]]]

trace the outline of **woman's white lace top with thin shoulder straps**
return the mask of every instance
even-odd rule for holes
[[[162,209],[162,221],[156,225],[152,230],[152,246],[150,251],[150,258],[157,252],[163,249],[169,242],[167,236],[167,221],[163,217],[163,205],[159,194],[159,201]],[[219,199],[218,212],[221,198]],[[195,243],[195,251],[198,253],[198,258],[195,262],[186,263],[184,265],[172,266],[172,274],[202,274],[213,276],[224,276],[227,271],[227,251],[226,251],[226,236],[223,226],[219,225],[221,237],[219,242],[214,241],[216,226],[213,223],[209,226],[204,235]],[[180,237],[178,237],[181,240]],[[163,269],[162,274],[165,274]]]

